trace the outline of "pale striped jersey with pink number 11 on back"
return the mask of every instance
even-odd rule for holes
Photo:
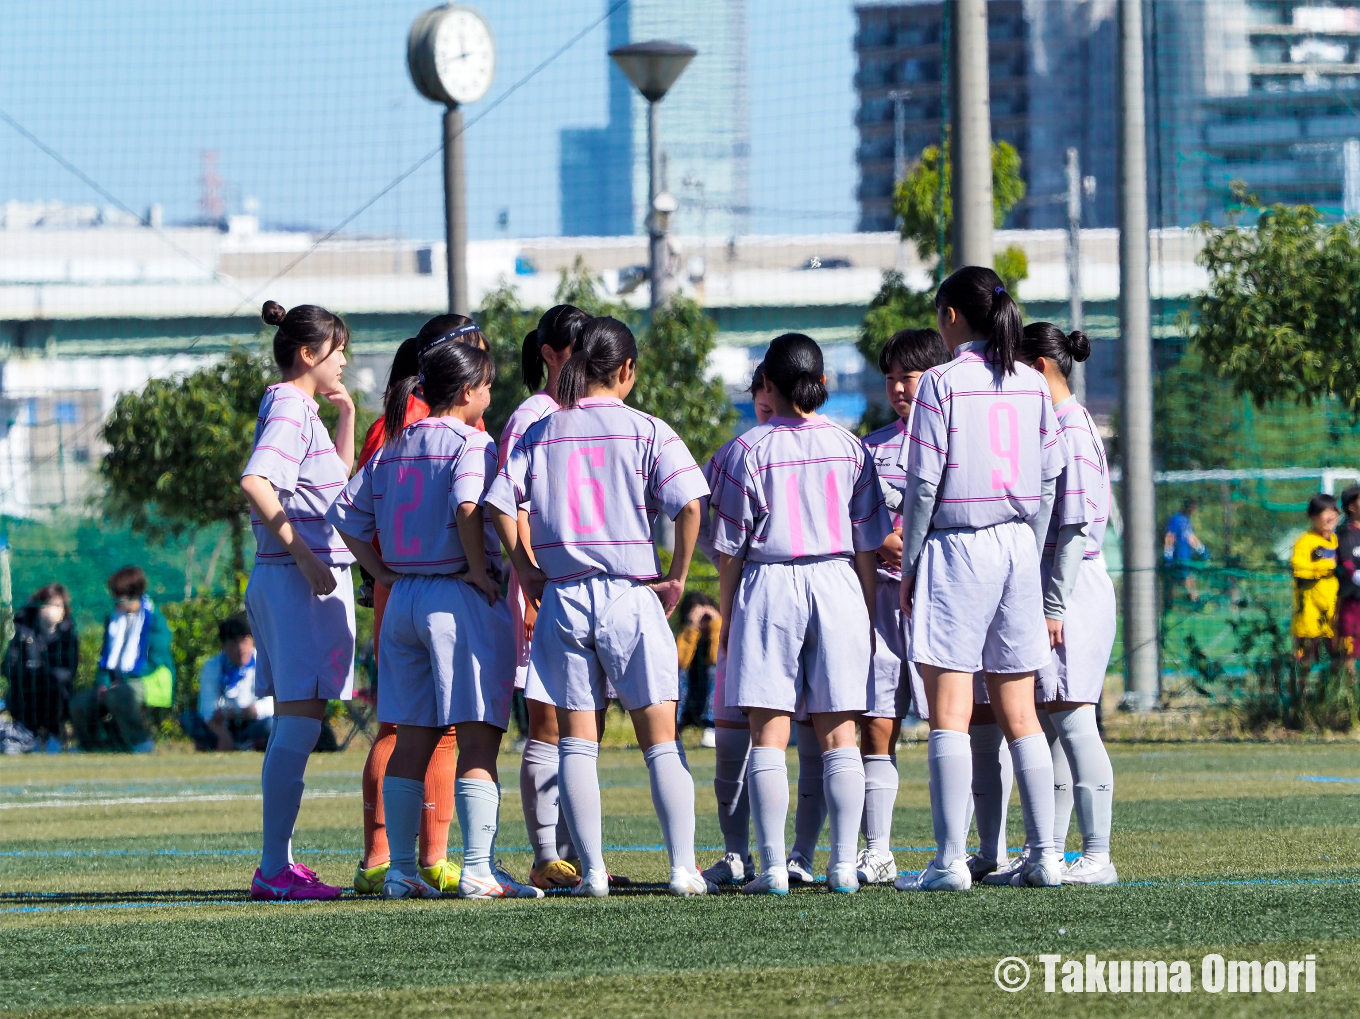
[[[713,546],[778,563],[866,552],[892,531],[873,457],[823,415],[771,418],[722,463]]]

